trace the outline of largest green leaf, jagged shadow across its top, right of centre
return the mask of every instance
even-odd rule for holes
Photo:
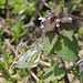
[[[73,61],[77,60],[77,41],[73,38],[73,42],[64,38],[56,42],[54,46],[54,53],[61,56],[63,60]]]

